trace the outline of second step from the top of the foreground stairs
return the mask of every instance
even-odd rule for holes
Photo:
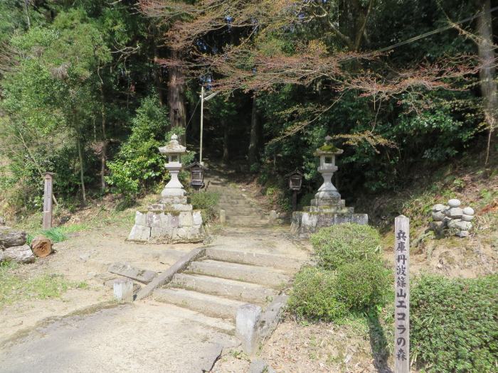
[[[187,271],[193,274],[221,277],[222,279],[259,283],[260,285],[277,289],[290,281],[290,276],[286,271],[282,271],[281,269],[235,264],[211,259],[194,261],[190,264]]]

